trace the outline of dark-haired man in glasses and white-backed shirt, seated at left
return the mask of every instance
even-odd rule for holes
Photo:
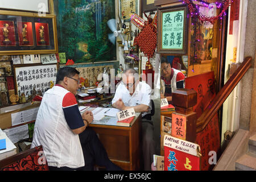
[[[79,86],[79,71],[60,68],[56,85],[44,93],[31,148],[43,146],[50,170],[93,170],[94,164],[119,170],[96,133],[87,127],[93,121],[92,112],[80,114],[75,98]]]

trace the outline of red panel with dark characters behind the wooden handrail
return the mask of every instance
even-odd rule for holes
[[[185,78],[185,87],[197,92],[197,105],[193,110],[197,118],[209,106],[210,101],[216,96],[214,73],[208,72],[197,76]],[[203,131],[196,134],[196,143],[201,148],[201,170],[209,170],[213,165],[209,164],[209,152],[220,149],[220,127],[218,125],[218,113],[214,115]]]

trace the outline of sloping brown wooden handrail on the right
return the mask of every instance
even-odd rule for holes
[[[226,84],[221,88],[220,92],[213,98],[207,109],[204,110],[203,114],[196,121],[196,133],[204,130],[205,126],[209,123],[210,119],[213,118],[214,114],[217,113],[218,109],[225,102],[226,98],[236,87],[238,82],[245,75],[247,70],[251,67],[251,57],[246,57],[243,63],[238,67],[236,72],[229,78]]]

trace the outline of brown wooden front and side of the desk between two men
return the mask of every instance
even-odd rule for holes
[[[124,170],[141,169],[141,113],[130,127],[90,124],[109,159]]]

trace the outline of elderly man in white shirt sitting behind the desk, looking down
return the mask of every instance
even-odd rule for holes
[[[144,170],[151,169],[155,154],[154,125],[151,121],[152,104],[150,100],[151,88],[139,81],[139,75],[133,68],[126,69],[122,75],[122,82],[115,90],[112,106],[126,110],[131,107],[135,112],[142,113],[142,152]]]

